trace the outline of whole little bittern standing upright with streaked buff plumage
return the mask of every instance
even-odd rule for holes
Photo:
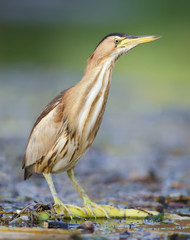
[[[55,204],[66,205],[58,198],[50,173],[67,171],[69,178],[93,213],[97,207],[74,176],[79,159],[91,146],[104,114],[112,70],[118,58],[135,46],[159,36],[130,36],[123,33],[107,35],[88,59],[85,74],[75,86],[61,92],[36,120],[26,147],[24,179],[42,173],[47,180]]]

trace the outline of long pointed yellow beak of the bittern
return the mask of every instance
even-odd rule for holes
[[[157,36],[157,35],[149,35],[149,36],[127,36],[126,38],[124,38],[120,44],[119,47],[128,47],[128,46],[137,46],[141,43],[145,43],[145,42],[150,42],[150,41],[154,41],[158,38],[160,38],[161,36]]]

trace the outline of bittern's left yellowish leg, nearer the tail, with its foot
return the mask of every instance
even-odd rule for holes
[[[65,210],[66,212],[68,212],[69,214],[71,214],[70,210],[67,208],[67,206],[59,199],[58,195],[57,195],[57,192],[55,190],[55,187],[54,187],[54,184],[53,184],[53,180],[52,180],[52,177],[51,177],[51,174],[50,173],[43,173],[47,183],[48,183],[48,186],[49,186],[49,189],[51,191],[51,194],[53,196],[53,200],[54,200],[54,203],[55,205],[61,205]]]

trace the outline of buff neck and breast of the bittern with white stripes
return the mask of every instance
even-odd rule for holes
[[[94,139],[99,129],[107,102],[113,67],[112,59],[95,66],[87,66],[83,79],[72,90],[75,93],[72,94],[72,96],[75,95],[72,106],[75,108],[75,116],[72,118],[77,119],[78,132],[86,139],[90,136]]]

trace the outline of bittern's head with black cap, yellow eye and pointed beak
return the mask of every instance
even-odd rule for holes
[[[120,56],[124,55],[137,45],[158,38],[160,38],[160,36],[131,36],[124,33],[111,33],[100,41],[94,54],[99,60],[111,58],[116,61]]]

